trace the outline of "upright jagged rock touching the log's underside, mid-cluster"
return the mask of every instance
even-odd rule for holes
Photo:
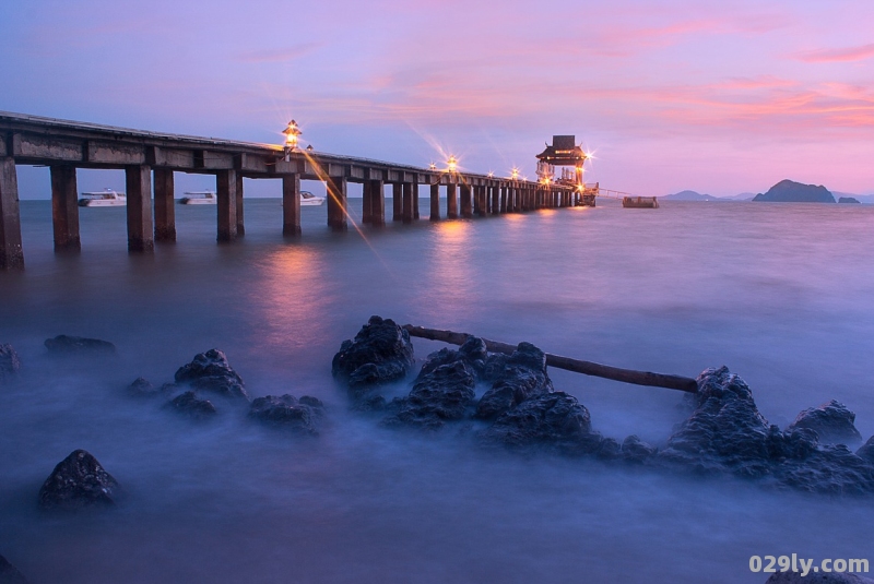
[[[480,398],[476,417],[495,419],[530,397],[553,391],[546,355],[531,343],[519,343],[492,388]]]

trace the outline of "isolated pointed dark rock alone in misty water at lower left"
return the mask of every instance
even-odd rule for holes
[[[114,504],[118,481],[97,458],[75,450],[58,463],[39,489],[43,509],[78,509],[94,504]]]

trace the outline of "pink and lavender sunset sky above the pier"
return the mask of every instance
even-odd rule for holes
[[[870,0],[10,0],[0,51],[5,111],[277,144],[294,118],[317,151],[532,179],[575,134],[587,182],[639,195],[874,193]]]

